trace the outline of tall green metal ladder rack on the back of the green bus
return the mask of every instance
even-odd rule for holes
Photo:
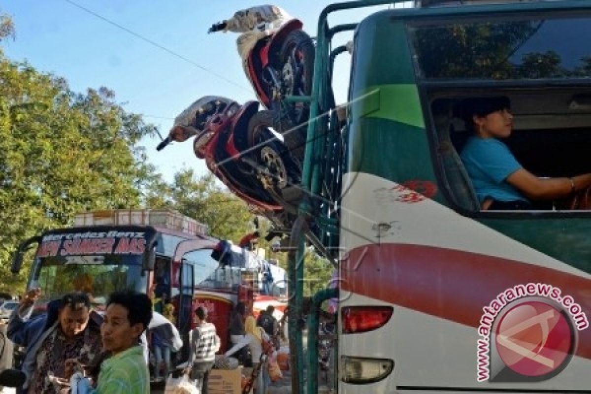
[[[300,203],[299,216],[293,225],[290,238],[291,252],[288,254],[288,278],[291,284],[288,305],[290,359],[293,370],[291,386],[293,393],[304,393],[304,360],[301,351],[303,349],[303,338],[300,328],[302,327],[301,318],[304,312],[303,275],[306,235],[317,237],[329,252],[337,250],[339,246],[338,206],[335,209],[335,204],[338,204],[340,199],[340,179],[336,179],[340,171],[331,172],[331,170],[341,166],[342,152],[335,149],[335,146],[340,144],[340,130],[336,121],[336,114],[332,113],[331,116],[326,114],[335,109],[331,86],[332,69],[335,57],[345,52],[345,48],[338,47],[335,51],[330,51],[330,43],[335,34],[354,30],[357,24],[342,24],[329,28],[327,18],[331,12],[335,11],[397,2],[402,1],[352,1],[332,4],[324,8],[318,22],[312,94],[306,97],[286,97],[286,100],[290,102],[310,102],[310,122],[307,131],[301,183],[306,198],[303,198]],[[330,160],[326,158],[330,158]],[[330,186],[326,187],[327,184]],[[336,289],[324,289],[314,296],[314,300],[318,301],[324,299],[324,297],[332,298],[336,294]],[[307,393],[316,394],[318,390],[317,336],[316,332],[312,333],[310,331],[318,330],[317,314],[314,308],[311,311],[310,319],[310,364],[307,375]]]

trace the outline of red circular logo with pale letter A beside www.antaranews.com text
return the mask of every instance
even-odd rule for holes
[[[540,377],[569,362],[574,334],[560,310],[527,301],[506,312],[496,328],[495,341],[507,367],[522,376]]]

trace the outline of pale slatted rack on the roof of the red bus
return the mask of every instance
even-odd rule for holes
[[[207,236],[206,224],[174,210],[158,209],[109,209],[79,213],[74,216],[74,226],[154,226],[190,235]]]

